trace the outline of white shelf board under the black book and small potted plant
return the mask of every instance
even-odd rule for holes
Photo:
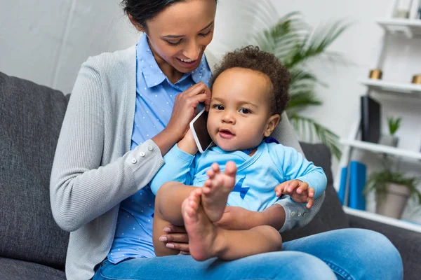
[[[352,146],[354,148],[360,148],[361,150],[372,151],[374,153],[386,153],[389,155],[396,155],[399,157],[421,160],[421,153],[370,143],[366,141],[340,139],[340,144]]]

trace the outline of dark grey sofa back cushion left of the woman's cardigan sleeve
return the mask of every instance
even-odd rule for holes
[[[68,234],[53,220],[49,181],[67,101],[0,72],[1,257],[65,265]]]

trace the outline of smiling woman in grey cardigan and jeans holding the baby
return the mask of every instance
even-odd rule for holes
[[[366,230],[326,232],[286,242],[281,252],[231,262],[154,257],[154,196],[148,183],[163,165],[162,156],[187,132],[196,106],[208,106],[215,61],[204,52],[213,37],[216,1],[122,3],[145,34],[136,46],[91,57],[81,66],[53,163],[53,216],[71,232],[67,279],[402,278],[396,248]],[[286,116],[274,136],[300,151]],[[301,209],[290,200],[266,212],[234,207],[219,225],[268,224],[284,231],[308,223],[322,201],[314,202],[306,218],[286,215]],[[182,228],[168,228],[161,240],[188,253]]]

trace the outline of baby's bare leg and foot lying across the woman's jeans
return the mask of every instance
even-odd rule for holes
[[[196,260],[218,257],[236,260],[248,255],[280,251],[282,239],[269,225],[250,230],[224,230],[216,227],[201,206],[202,190],[189,194],[182,203],[182,215],[189,234],[189,250]]]

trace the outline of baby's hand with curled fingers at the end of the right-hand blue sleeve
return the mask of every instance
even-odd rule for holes
[[[285,181],[275,187],[276,196],[289,195],[291,199],[298,203],[307,202],[306,207],[310,209],[314,202],[314,188],[310,188],[308,183],[300,180]]]

